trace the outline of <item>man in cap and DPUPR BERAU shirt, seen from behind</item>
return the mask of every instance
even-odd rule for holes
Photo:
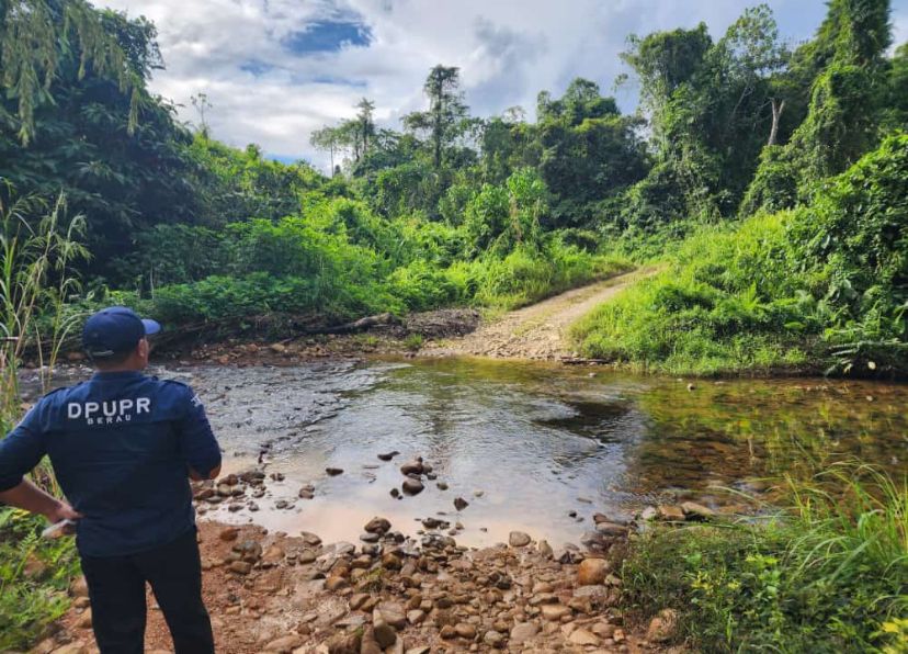
[[[159,330],[125,307],[91,316],[82,345],[98,372],[45,395],[0,441],[0,501],[76,521],[102,654],[144,651],[146,582],[177,653],[214,652],[189,478],[215,478],[220,450],[189,386],[143,374]],[[71,506],[23,480],[45,454]]]

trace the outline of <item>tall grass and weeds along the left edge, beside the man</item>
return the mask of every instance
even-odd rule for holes
[[[34,352],[42,364],[46,391],[61,343],[76,325],[77,316],[64,312],[64,303],[78,290],[71,264],[88,252],[78,240],[84,219],[65,224],[65,210],[63,196],[50,206],[34,198],[0,200],[0,438],[22,413],[19,368],[25,352]],[[59,494],[46,462],[33,476]],[[69,539],[39,539],[43,522],[24,511],[0,508],[2,651],[33,644],[69,604],[66,587],[78,572],[75,548]]]

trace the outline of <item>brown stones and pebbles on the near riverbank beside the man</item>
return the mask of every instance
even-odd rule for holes
[[[387,453],[393,459],[393,453]],[[429,464],[400,466],[401,486],[428,483]],[[262,469],[194,484],[201,506],[263,493]],[[305,489],[303,489],[305,490]],[[400,490],[404,493],[404,490]],[[216,498],[220,498],[219,500]],[[461,498],[462,501],[466,501]],[[466,508],[466,507],[462,507]],[[617,574],[626,539],[645,520],[711,519],[705,507],[652,507],[623,522],[590,510],[580,545],[553,549],[513,531],[507,543],[458,545],[462,528],[424,516],[417,538],[386,518],[361,526],[356,543],[322,543],[309,532],[202,521],[203,593],[217,651],[378,654],[429,652],[643,652],[665,650],[673,616],[629,624]],[[95,652],[84,580],[73,608],[33,652]],[[169,652],[154,596],[147,651]]]

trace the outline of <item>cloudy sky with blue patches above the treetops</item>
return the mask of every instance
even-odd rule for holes
[[[314,129],[355,114],[363,97],[376,122],[424,109],[422,83],[436,64],[461,68],[475,115],[520,105],[532,117],[541,90],[560,95],[586,77],[636,105],[618,53],[628,34],[693,27],[720,36],[757,0],[97,0],[145,15],[158,29],[166,69],[151,90],[198,123],[193,94],[204,92],[212,135],[230,145],[259,144],[281,160],[307,159]],[[781,36],[809,38],[824,0],[769,0]],[[896,43],[908,40],[908,0],[893,0]]]

